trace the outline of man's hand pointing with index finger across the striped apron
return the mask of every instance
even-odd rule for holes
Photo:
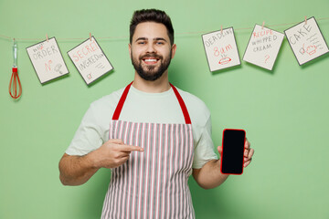
[[[143,148],[124,144],[122,140],[109,140],[90,152],[90,156],[96,168],[115,168],[126,162],[132,151],[143,151]]]

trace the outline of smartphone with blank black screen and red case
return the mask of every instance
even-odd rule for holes
[[[245,141],[245,130],[226,129],[223,131],[223,151],[220,165],[220,171],[223,174],[242,174]]]

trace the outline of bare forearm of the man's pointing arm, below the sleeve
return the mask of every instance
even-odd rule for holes
[[[91,154],[70,156],[64,154],[59,162],[59,179],[64,185],[80,185],[86,183],[99,170],[93,166]]]

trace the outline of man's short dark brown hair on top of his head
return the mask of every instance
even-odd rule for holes
[[[167,29],[171,45],[174,44],[174,28],[170,17],[167,16],[164,11],[157,9],[142,9],[133,13],[133,18],[130,25],[130,43],[132,43],[136,26],[143,22],[155,22],[163,24]]]

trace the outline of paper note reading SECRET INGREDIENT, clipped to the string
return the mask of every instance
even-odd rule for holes
[[[87,84],[113,69],[94,36],[69,50],[68,55]]]

